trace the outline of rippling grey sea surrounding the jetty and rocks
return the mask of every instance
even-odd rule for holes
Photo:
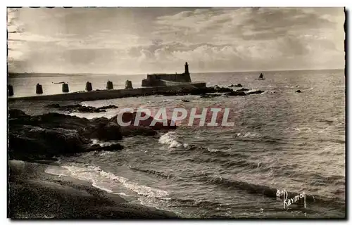
[[[121,108],[230,108],[232,127],[180,124],[158,136],[133,136],[119,141],[117,151],[58,157],[49,174],[72,176],[121,195],[131,203],[175,212],[186,218],[342,218],[346,217],[346,84],[344,70],[191,74],[207,86],[241,84],[263,90],[249,96],[143,96],[82,102],[106,113],[67,113],[78,117],[113,117]],[[146,75],[18,75],[8,78],[17,96],[125,88],[127,79],[140,87]],[[240,89],[240,88],[234,88]],[[301,93],[296,93],[297,90]],[[184,101],[188,100],[188,101]],[[47,109],[15,102],[31,115]],[[39,106],[38,106],[39,105]],[[110,144],[94,140],[101,145]],[[274,190],[274,191],[272,191]],[[313,195],[306,207],[290,205],[275,190]]]

